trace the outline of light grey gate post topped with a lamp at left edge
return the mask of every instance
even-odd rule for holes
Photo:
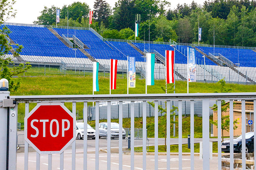
[[[0,169],[16,170],[17,106],[10,99],[9,83],[0,80]],[[11,108],[10,108],[11,107]]]

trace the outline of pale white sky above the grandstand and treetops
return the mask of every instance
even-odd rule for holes
[[[40,16],[40,12],[43,10],[44,6],[51,7],[52,5],[57,5],[62,7],[63,5],[69,5],[73,2],[85,2],[91,9],[93,9],[94,0],[17,0],[13,8],[16,10],[17,14],[15,18],[11,18],[6,22],[13,23],[26,23],[33,24],[33,21],[37,20],[37,17]],[[118,0],[106,0],[111,7],[115,6],[115,2]],[[171,2],[171,8],[175,8],[178,3],[188,3],[190,4],[193,0],[167,0]],[[204,0],[195,0],[198,4],[203,4]]]

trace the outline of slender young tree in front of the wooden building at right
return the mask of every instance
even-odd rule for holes
[[[220,81],[218,81],[218,84],[221,85],[220,90],[221,93],[225,93],[225,92],[230,92],[232,89],[231,88],[225,88],[226,82],[224,79],[221,79]],[[215,91],[217,92],[217,91]],[[213,111],[218,111],[218,106],[217,104],[214,104],[212,107]],[[229,119],[229,115],[227,116],[223,116],[223,112],[227,112],[227,109],[229,108],[229,103],[226,103],[225,100],[221,100],[221,129],[222,129],[222,141],[224,141],[224,130],[229,132],[229,127],[230,127],[230,119]],[[215,126],[217,126],[218,128],[218,120],[210,120],[210,123],[214,124]],[[238,120],[234,120],[233,124],[234,127],[233,129],[237,129],[238,126],[236,125],[238,123]]]

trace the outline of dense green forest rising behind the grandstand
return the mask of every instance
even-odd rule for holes
[[[74,2],[60,9],[59,26],[88,27],[90,7]],[[137,40],[198,42],[202,44],[256,47],[255,0],[206,0],[203,4],[178,4],[174,9],[166,0],[118,0],[115,7],[95,0],[90,25],[104,38],[135,39],[135,15],[141,14]],[[69,20],[69,22],[68,22]],[[44,7],[35,24],[55,25],[56,6]],[[149,27],[150,26],[150,27]]]

